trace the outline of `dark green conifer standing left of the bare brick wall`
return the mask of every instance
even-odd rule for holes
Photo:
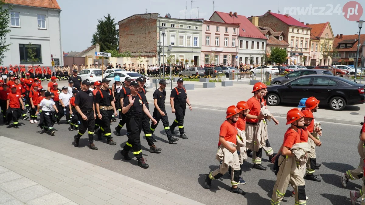
[[[114,19],[108,13],[108,16],[104,16],[104,20],[97,20],[98,24],[96,32],[92,35],[91,44],[99,43],[101,52],[118,49],[119,31],[116,29],[117,23],[114,22]]]

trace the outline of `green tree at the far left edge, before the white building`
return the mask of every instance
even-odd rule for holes
[[[7,5],[8,8],[4,8],[4,5]],[[10,46],[10,43],[6,43],[6,36],[10,32],[9,10],[12,8],[13,6],[5,4],[3,0],[0,0],[0,65],[3,65],[3,59],[6,57],[5,53],[9,50]]]

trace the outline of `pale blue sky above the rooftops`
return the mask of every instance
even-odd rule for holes
[[[228,3],[227,3],[228,2]],[[365,9],[364,1],[358,0],[362,7]],[[234,3],[234,4],[232,4]],[[342,12],[343,5],[347,3],[347,0],[308,0],[308,1],[292,1],[292,0],[261,0],[261,1],[225,1],[225,0],[191,0],[188,1],[176,1],[176,0],[138,0],[138,1],[126,1],[126,0],[109,0],[109,1],[97,1],[97,0],[58,0],[58,4],[61,7],[61,38],[62,48],[65,52],[68,51],[82,51],[91,46],[92,34],[96,31],[97,19],[104,18],[108,13],[112,18],[115,18],[115,22],[118,22],[128,16],[136,13],[160,13],[161,16],[170,13],[173,18],[185,18],[185,5],[186,17],[197,18],[199,7],[199,18],[208,20],[214,11],[220,12],[237,12],[238,15],[245,15],[249,17],[251,15],[259,16],[263,15],[266,11],[277,13],[280,10],[281,14],[284,14],[285,8],[287,13],[298,11],[306,11],[309,7],[323,7],[323,13],[328,13],[333,5],[332,15],[291,15],[300,22],[304,23],[324,23],[330,22],[334,35],[336,34],[357,34],[358,24],[356,22],[350,22],[345,17],[338,13]],[[331,4],[331,5],[328,5]],[[192,5],[192,7],[191,7]],[[337,7],[338,6],[338,7]],[[292,7],[296,7],[292,8]],[[337,7],[337,9],[335,9]],[[291,10],[289,8],[292,8]],[[335,13],[334,11],[341,12]],[[192,11],[192,12],[190,12]],[[316,12],[319,12],[317,10]],[[362,15],[362,20],[365,20],[365,15]],[[365,27],[365,25],[364,25]],[[365,34],[365,28],[362,31]]]

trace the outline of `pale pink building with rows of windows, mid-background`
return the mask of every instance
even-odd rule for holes
[[[235,64],[239,24],[204,20],[202,30],[200,65]]]

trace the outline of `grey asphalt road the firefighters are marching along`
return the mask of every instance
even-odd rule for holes
[[[173,121],[170,107],[168,110],[169,121]],[[151,112],[153,105],[151,105]],[[65,154],[86,162],[116,171],[151,185],[180,194],[204,204],[269,204],[272,189],[276,176],[271,171],[273,165],[264,156],[262,164],[271,170],[253,170],[251,158],[244,163],[244,179],[246,185],[239,185],[247,193],[245,196],[229,192],[230,179],[226,174],[221,179],[212,182],[211,190],[204,189],[204,176],[211,170],[218,167],[215,159],[217,150],[218,133],[220,124],[225,117],[224,111],[193,108],[187,111],[185,116],[185,132],[188,140],[180,139],[176,144],[168,144],[162,123],[156,128],[157,147],[162,148],[160,154],[152,154],[145,139],[141,139],[143,155],[150,165],[149,169],[142,169],[137,162],[122,160],[120,155],[121,147],[124,146],[127,137],[115,136],[114,127],[117,122],[111,125],[114,133],[116,146],[110,146],[104,139],[99,142],[95,136],[95,144],[99,148],[93,151],[87,147],[87,136],[80,140],[80,147],[72,145],[73,136],[77,131],[69,131],[68,125],[55,125],[55,136],[42,134],[36,124],[29,121],[22,121],[20,129],[6,128],[0,124],[0,135],[20,140],[29,144],[43,147],[61,154]],[[279,125],[269,123],[269,140],[275,151],[283,142],[283,135],[287,129],[285,119],[278,117]],[[65,118],[60,123],[64,123]],[[341,186],[339,174],[348,169],[358,166],[360,156],[357,153],[358,134],[360,125],[342,125],[334,123],[322,123],[323,137],[322,147],[317,148],[317,161],[323,163],[320,170],[316,170],[322,178],[322,182],[306,181],[306,193],[310,204],[350,204],[350,190],[361,189],[361,180],[350,181],[347,188]],[[161,132],[160,132],[161,131]],[[125,128],[122,129],[125,134]],[[142,136],[143,134],[141,134]],[[92,181],[92,178],[90,179]],[[281,204],[294,204],[294,198],[290,197],[292,188],[288,187],[284,200]],[[360,202],[360,200],[359,200]],[[358,204],[359,204],[358,202]]]

